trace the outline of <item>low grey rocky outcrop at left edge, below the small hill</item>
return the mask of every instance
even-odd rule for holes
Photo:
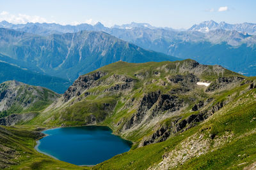
[[[8,117],[0,118],[0,125],[15,125],[19,122],[28,122],[36,117],[38,113],[12,114]]]

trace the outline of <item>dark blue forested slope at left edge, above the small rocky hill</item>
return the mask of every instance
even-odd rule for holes
[[[0,55],[1,59],[1,55]],[[70,81],[35,73],[5,62],[0,62],[0,83],[8,80],[17,80],[30,85],[42,86],[62,94],[72,84]]]

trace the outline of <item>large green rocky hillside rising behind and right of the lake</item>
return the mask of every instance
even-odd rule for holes
[[[221,66],[189,59],[119,61],[80,76],[58,101],[22,124],[106,125],[132,141],[129,152],[88,169],[253,169],[255,98],[254,77]]]

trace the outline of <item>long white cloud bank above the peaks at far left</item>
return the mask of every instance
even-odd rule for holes
[[[37,15],[26,15],[19,13],[18,15],[13,15],[8,13],[7,11],[2,11],[0,13],[0,21],[6,20],[7,22],[13,24],[26,24],[27,22],[47,22],[47,20],[43,17],[39,17]]]

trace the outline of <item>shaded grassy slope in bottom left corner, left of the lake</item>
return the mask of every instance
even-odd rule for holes
[[[9,150],[16,151],[15,155],[11,157],[10,162],[16,162],[17,165],[11,166],[12,164],[6,164],[6,166],[11,166],[10,169],[85,169],[84,167],[74,166],[36,152],[34,147],[37,137],[35,132],[33,132],[33,127],[0,126],[0,128],[1,144],[3,145],[4,143],[4,146],[8,147]],[[6,149],[2,145],[0,145],[0,150]],[[10,153],[7,154],[10,155]],[[4,164],[3,162],[0,163]]]

